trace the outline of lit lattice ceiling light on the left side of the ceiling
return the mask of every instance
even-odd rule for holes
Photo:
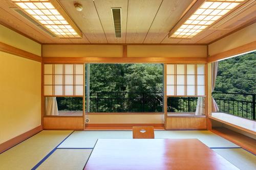
[[[12,0],[59,38],[81,38],[82,33],[57,1]],[[57,7],[56,7],[57,6]],[[58,9],[56,9],[56,8]],[[65,16],[65,17],[63,17]]]

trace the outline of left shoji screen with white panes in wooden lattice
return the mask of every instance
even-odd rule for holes
[[[82,96],[83,64],[44,64],[45,96]]]

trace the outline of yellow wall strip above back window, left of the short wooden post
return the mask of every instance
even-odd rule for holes
[[[43,57],[122,57],[122,45],[42,45]]]

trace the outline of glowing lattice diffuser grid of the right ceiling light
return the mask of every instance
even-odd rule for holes
[[[245,0],[206,1],[170,37],[193,38]]]

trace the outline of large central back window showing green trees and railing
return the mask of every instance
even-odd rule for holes
[[[163,65],[90,64],[90,112],[163,112]]]

